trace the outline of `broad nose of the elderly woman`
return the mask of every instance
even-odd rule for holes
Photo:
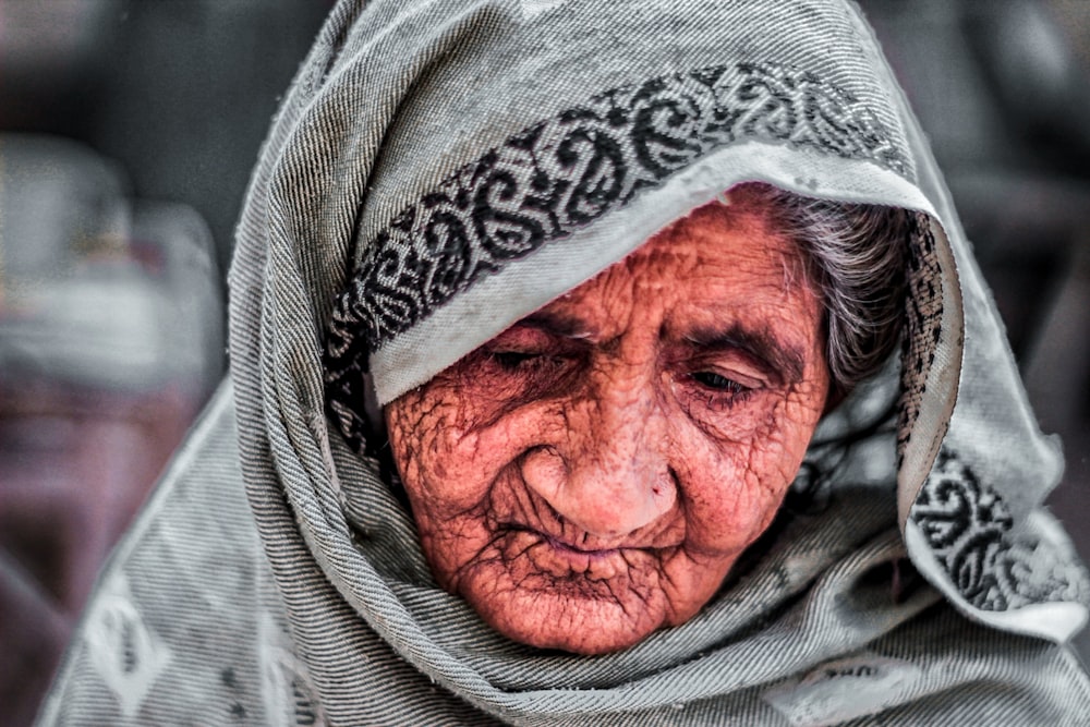
[[[614,538],[674,507],[665,417],[652,393],[596,397],[573,405],[567,420],[566,437],[522,464],[526,484],[566,522]]]

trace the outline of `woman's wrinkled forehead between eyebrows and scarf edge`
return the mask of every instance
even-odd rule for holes
[[[647,328],[682,341],[743,326],[803,343],[821,316],[801,268],[801,253],[772,229],[764,210],[715,202],[531,318],[592,339]]]

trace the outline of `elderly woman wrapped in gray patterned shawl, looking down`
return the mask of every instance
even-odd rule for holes
[[[1058,455],[852,7],[346,0],[231,290],[43,724],[1090,710]]]

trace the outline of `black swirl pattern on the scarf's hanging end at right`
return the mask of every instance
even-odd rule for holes
[[[1051,543],[1015,536],[997,493],[954,453],[940,452],[909,518],[920,528],[958,592],[981,610],[1031,603],[1082,602],[1086,571]]]

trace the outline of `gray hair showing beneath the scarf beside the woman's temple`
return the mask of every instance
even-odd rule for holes
[[[881,368],[900,340],[917,213],[804,197],[771,184],[746,187],[807,259],[808,282],[825,307],[829,375],[846,393]]]

